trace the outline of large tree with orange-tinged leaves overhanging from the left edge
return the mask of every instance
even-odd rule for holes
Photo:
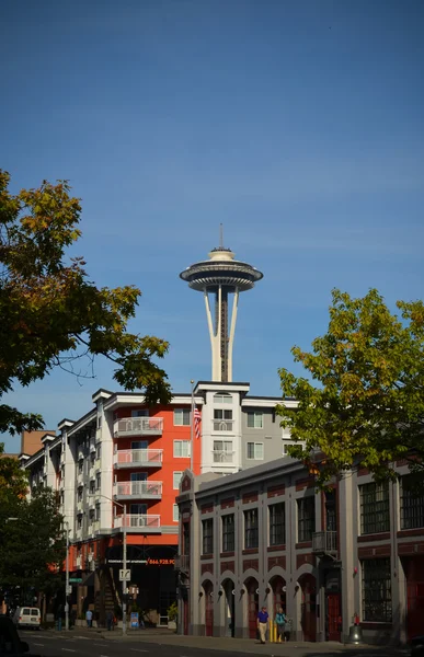
[[[44,181],[15,195],[9,183],[0,170],[0,395],[56,367],[92,376],[94,358],[104,356],[116,365],[119,385],[144,390],[149,404],[168,402],[167,374],[153,361],[168,343],[127,331],[140,291],[98,288],[84,261],[69,255],[81,235],[81,206],[67,182]],[[76,364],[83,356],[88,371]],[[0,404],[0,433],[42,427],[39,415]]]

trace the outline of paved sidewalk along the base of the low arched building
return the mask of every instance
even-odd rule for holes
[[[244,653],[251,655],[273,655],[275,657],[288,657],[296,655],[296,657],[313,657],[325,655],[325,657],[336,657],[340,655],[348,655],[349,657],[364,657],[369,655],[370,657],[402,657],[410,655],[408,648],[391,648],[388,646],[353,646],[343,645],[335,642],[325,643],[306,643],[306,642],[287,642],[283,644],[278,643],[266,643],[261,645],[255,639],[250,638],[230,638],[230,637],[218,637],[218,636],[185,636],[175,634],[174,631],[163,629],[148,629],[148,630],[130,630],[125,636],[123,636],[122,630],[115,629],[111,632],[104,629],[87,629],[87,627],[75,627],[72,635],[81,638],[89,638],[98,636],[107,641],[113,642],[139,642],[139,643],[157,643],[159,645],[174,645],[185,646],[198,649],[215,649],[215,650],[227,650],[231,653]]]

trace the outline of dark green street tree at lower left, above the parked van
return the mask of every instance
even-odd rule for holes
[[[15,498],[0,511],[0,581],[3,590],[53,592],[60,586],[66,554],[57,494],[36,488],[31,499]]]

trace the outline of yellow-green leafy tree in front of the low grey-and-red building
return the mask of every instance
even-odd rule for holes
[[[415,480],[424,479],[424,306],[397,303],[392,314],[377,290],[353,299],[332,292],[328,332],[312,351],[294,347],[295,361],[310,379],[278,370],[282,425],[291,428],[290,456],[303,459],[319,484],[351,468],[367,468],[376,479],[394,477],[405,459]],[[314,382],[318,384],[316,385]],[[319,469],[313,450],[322,452]]]

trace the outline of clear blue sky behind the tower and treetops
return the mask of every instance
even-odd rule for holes
[[[234,380],[277,395],[333,287],[423,297],[423,27],[421,0],[3,2],[0,166],[13,189],[70,181],[78,252],[99,285],[141,288],[131,328],[170,341],[175,391],[210,378],[203,299],[177,275],[222,222],[264,272],[241,298]],[[55,428],[116,389],[95,371],[5,401]]]

